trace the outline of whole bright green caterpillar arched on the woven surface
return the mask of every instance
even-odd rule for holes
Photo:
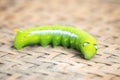
[[[97,52],[97,42],[94,37],[83,30],[70,26],[40,26],[18,31],[14,47],[20,50],[24,46],[40,44],[45,47],[62,45],[80,51],[85,59],[91,59]]]

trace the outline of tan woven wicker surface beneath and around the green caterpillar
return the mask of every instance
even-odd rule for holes
[[[13,29],[56,24],[92,34],[95,57],[61,46],[13,48]],[[119,0],[0,0],[0,80],[120,80],[119,36]]]

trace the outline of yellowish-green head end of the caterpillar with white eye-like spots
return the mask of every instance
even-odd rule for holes
[[[84,58],[88,60],[96,54],[97,49],[98,47],[96,42],[85,41],[81,45],[81,52],[83,53]]]

